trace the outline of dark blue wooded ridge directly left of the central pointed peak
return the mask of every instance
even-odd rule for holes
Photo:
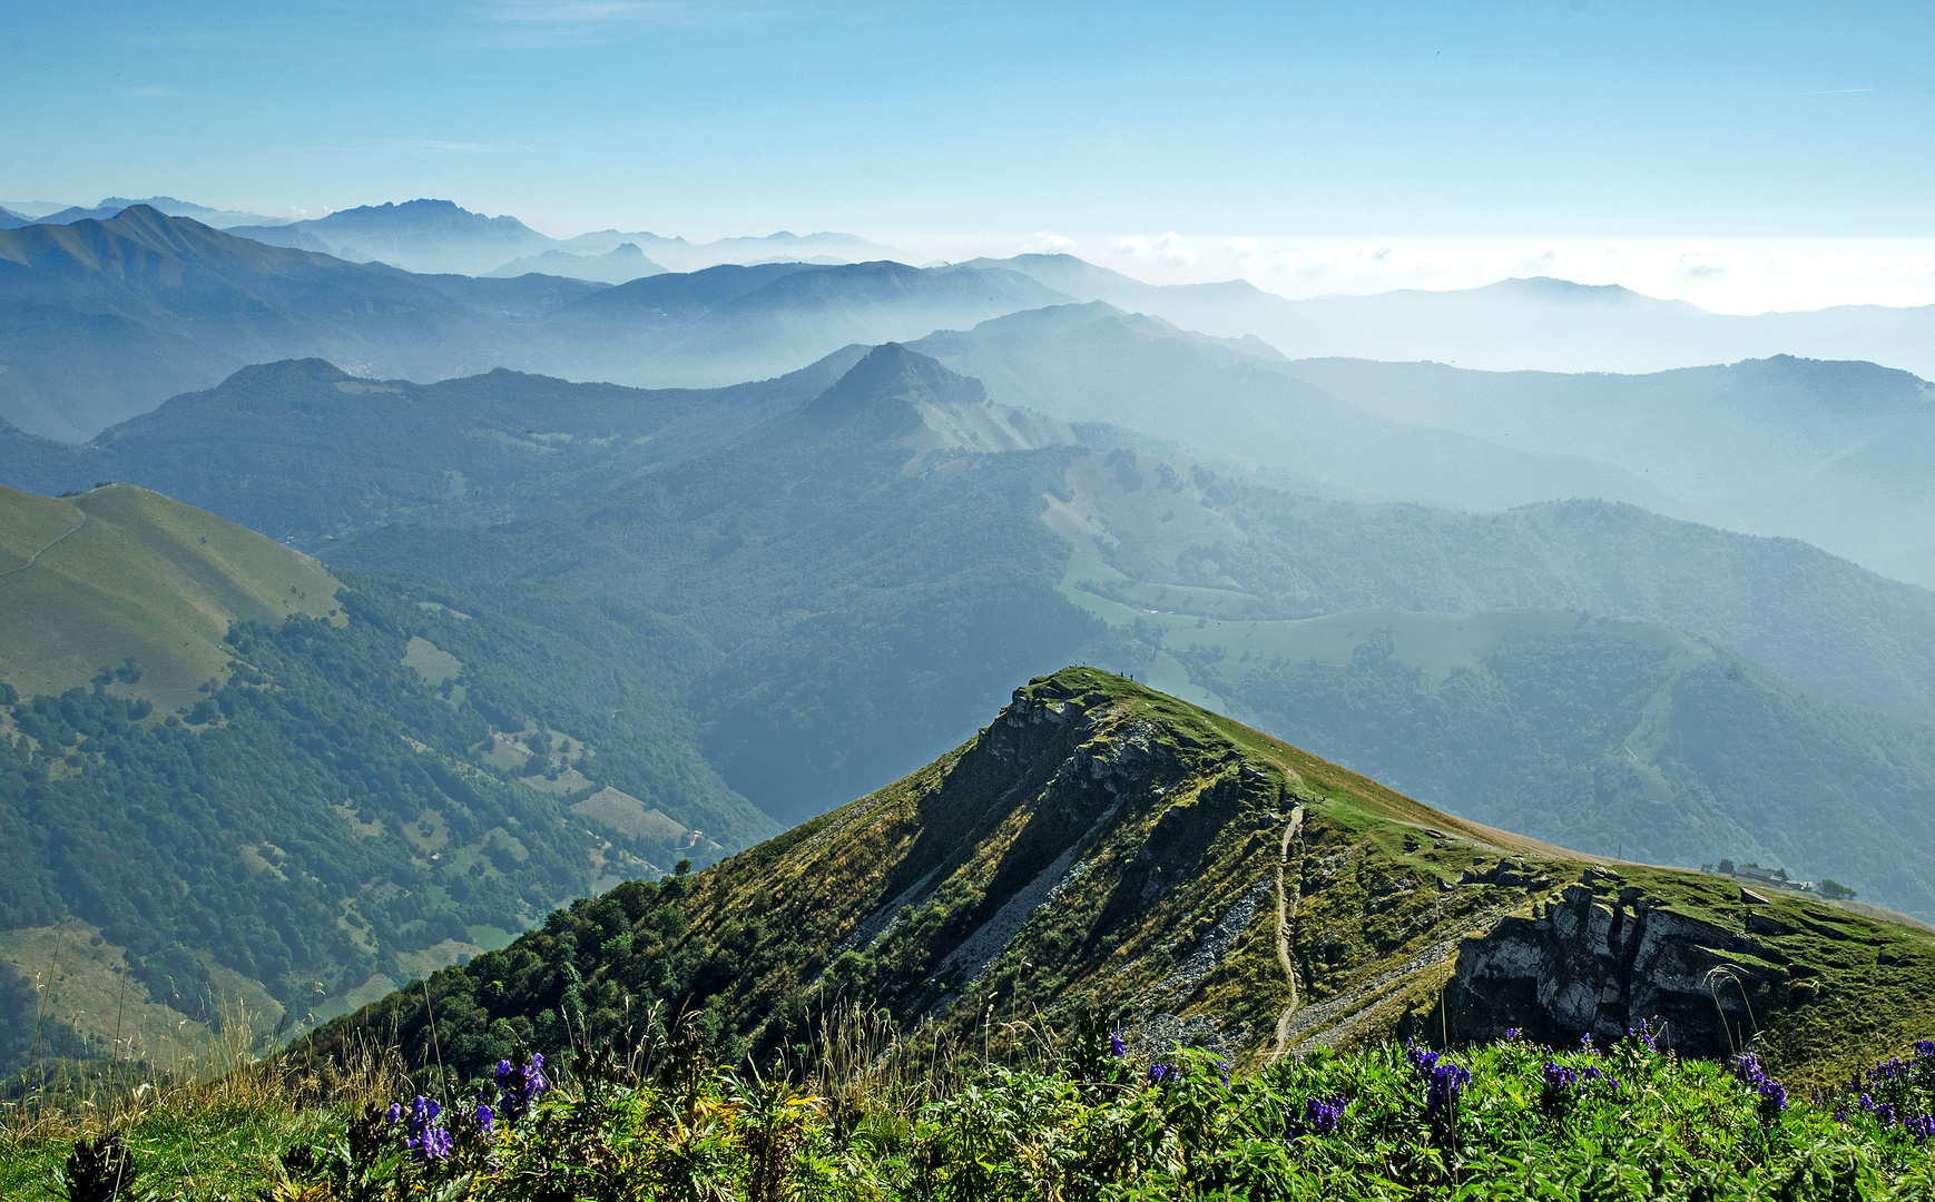
[[[861,354],[710,391],[567,383],[501,368],[418,385],[284,360],[174,397],[85,447],[0,434],[0,480],[43,494],[139,480],[315,552],[389,523],[555,513],[731,441],[819,395]]]

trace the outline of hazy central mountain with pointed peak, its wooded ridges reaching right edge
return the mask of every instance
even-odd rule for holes
[[[1002,670],[1107,656],[1480,821],[1656,861],[1751,846],[1935,914],[1900,852],[1935,842],[1935,594],[1623,505],[1310,501],[1109,439],[882,346],[555,517],[331,556],[675,614],[720,652],[706,755],[780,821],[944,749]]]

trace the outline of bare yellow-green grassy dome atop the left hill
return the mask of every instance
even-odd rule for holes
[[[335,610],[315,559],[134,486],[48,499],[0,488],[0,679],[23,697],[85,685],[103,666],[141,668],[124,697],[163,712],[226,676],[230,621]]]

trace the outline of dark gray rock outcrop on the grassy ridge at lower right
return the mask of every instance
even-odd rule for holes
[[[1751,1032],[1745,995],[1769,958],[1780,956],[1743,931],[1589,873],[1533,917],[1507,917],[1465,941],[1447,1020],[1467,1039],[1523,1028],[1554,1043],[1587,1034],[1606,1043],[1652,1022],[1664,1024],[1662,1047],[1724,1057]]]

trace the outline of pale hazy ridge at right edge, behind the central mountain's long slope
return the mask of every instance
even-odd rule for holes
[[[1366,360],[1285,370],[1362,412],[1643,476],[1662,494],[1651,509],[1803,538],[1935,585],[1935,482],[1921,466],[1935,385],[1908,372],[1786,354],[1654,376]],[[1612,496],[1585,480],[1579,492]]]

